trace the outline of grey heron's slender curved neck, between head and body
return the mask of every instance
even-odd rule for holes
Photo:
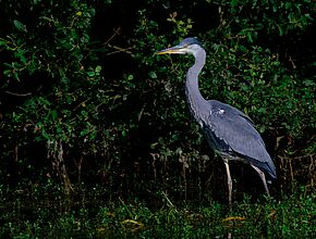
[[[200,48],[195,54],[195,63],[190,67],[186,74],[185,81],[185,95],[186,100],[190,105],[191,112],[196,120],[199,115],[197,113],[203,113],[207,110],[207,101],[203,98],[198,89],[198,74],[200,73],[206,59],[206,52]],[[200,115],[202,116],[202,115]]]

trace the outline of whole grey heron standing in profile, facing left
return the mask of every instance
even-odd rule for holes
[[[277,178],[275,164],[253,121],[240,110],[217,100],[206,100],[199,92],[198,75],[205,65],[206,52],[196,38],[185,38],[175,47],[157,54],[193,54],[195,62],[186,73],[185,96],[190,111],[202,127],[210,148],[223,160],[232,198],[232,179],[229,161],[250,164],[259,175],[269,196],[265,173]]]

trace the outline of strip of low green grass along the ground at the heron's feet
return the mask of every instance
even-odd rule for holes
[[[94,191],[94,189],[92,190]],[[161,202],[96,192],[64,197],[50,190],[1,188],[0,238],[313,238],[316,194],[301,191],[280,201]],[[104,193],[104,192],[102,192]],[[100,194],[99,194],[100,196]]]

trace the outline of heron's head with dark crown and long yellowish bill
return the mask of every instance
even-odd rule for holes
[[[202,45],[196,38],[189,37],[172,48],[158,51],[157,54],[195,54],[200,48]]]

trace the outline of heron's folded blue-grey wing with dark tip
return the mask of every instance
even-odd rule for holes
[[[215,100],[208,102],[211,110],[205,129],[210,134],[207,137],[212,138],[214,148],[235,153],[276,178],[274,162],[251,118],[229,104]]]

